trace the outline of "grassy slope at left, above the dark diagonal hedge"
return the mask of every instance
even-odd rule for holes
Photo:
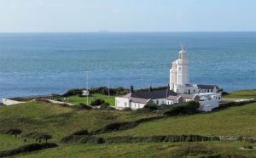
[[[132,111],[75,110],[53,104],[30,102],[0,107],[0,130],[20,128],[23,135],[49,133],[54,141],[80,129],[89,131],[116,121],[135,121],[156,114],[137,115]]]

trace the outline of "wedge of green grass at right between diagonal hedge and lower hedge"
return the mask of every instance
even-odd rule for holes
[[[203,136],[256,136],[256,104],[230,107],[212,113],[177,116],[151,121],[103,136],[153,136],[196,134]]]

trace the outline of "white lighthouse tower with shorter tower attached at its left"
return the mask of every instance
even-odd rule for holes
[[[187,93],[189,84],[189,60],[186,59],[187,52],[181,44],[181,50],[178,52],[178,59],[172,62],[170,69],[170,89],[176,93]]]

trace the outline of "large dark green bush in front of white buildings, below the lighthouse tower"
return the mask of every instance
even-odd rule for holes
[[[164,115],[167,115],[167,116],[192,115],[199,112],[197,110],[199,107],[200,107],[200,104],[198,102],[189,101],[187,103],[173,105],[170,110],[167,110],[164,113]]]

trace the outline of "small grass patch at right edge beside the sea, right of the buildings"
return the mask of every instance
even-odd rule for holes
[[[224,99],[256,99],[256,89],[229,92]]]

